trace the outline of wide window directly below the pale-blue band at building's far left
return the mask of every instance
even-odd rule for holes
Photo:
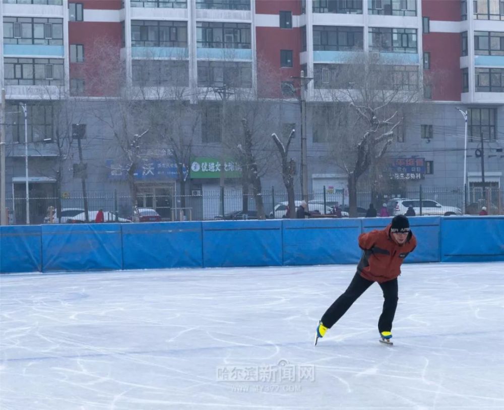
[[[64,85],[63,60],[58,58],[4,57],[8,85]]]

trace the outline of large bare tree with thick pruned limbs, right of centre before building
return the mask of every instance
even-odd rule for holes
[[[318,85],[320,99],[331,101],[328,124],[332,153],[347,173],[350,215],[357,210],[357,183],[368,171],[377,172],[394,142],[403,109],[420,99],[418,66],[398,66],[380,53],[359,53],[347,64],[332,65],[329,87]],[[374,177],[371,177],[374,178]]]

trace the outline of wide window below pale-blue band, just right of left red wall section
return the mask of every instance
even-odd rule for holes
[[[132,81],[135,87],[186,87],[189,63],[178,60],[133,60]]]

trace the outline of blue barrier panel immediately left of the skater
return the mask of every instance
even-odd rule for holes
[[[360,219],[284,219],[284,265],[357,263]]]

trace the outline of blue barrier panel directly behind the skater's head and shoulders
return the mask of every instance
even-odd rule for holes
[[[410,227],[415,234],[417,246],[404,260],[405,263],[439,262],[441,252],[439,247],[439,216],[411,216]],[[391,222],[392,218],[364,218],[362,231],[369,232],[373,229],[383,229]]]

